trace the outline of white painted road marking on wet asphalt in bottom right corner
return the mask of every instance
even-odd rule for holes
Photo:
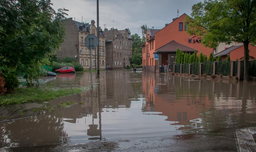
[[[240,128],[236,130],[237,151],[256,152],[256,143],[253,134],[256,133],[256,127]]]

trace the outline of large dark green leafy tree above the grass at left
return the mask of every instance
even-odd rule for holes
[[[66,36],[60,21],[68,10],[56,12],[51,6],[49,0],[1,1],[0,67],[15,69],[17,75],[25,72],[27,81],[38,79],[35,72],[49,62]]]

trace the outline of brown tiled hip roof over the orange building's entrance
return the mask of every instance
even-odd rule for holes
[[[164,46],[157,49],[154,53],[160,53],[160,52],[176,52],[177,49],[180,49],[182,52],[194,52],[195,49],[192,49],[190,47],[187,47],[183,44],[180,44],[174,40],[171,42],[165,44]]]

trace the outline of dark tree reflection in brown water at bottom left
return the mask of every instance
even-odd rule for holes
[[[17,143],[19,146],[34,144],[67,143],[70,137],[64,131],[63,118],[51,115],[36,115],[1,124],[0,146]]]

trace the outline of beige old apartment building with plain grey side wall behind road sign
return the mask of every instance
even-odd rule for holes
[[[56,55],[60,58],[72,57],[83,66],[84,69],[90,69],[90,49],[85,46],[85,38],[88,34],[95,34],[97,36],[97,28],[95,21],[91,24],[81,23],[68,18],[62,21],[66,28],[67,38],[61,46],[61,51],[57,50]],[[99,65],[100,69],[106,67],[106,52],[105,52],[106,37],[104,32],[99,28]],[[92,50],[93,69],[97,67],[97,48]]]

